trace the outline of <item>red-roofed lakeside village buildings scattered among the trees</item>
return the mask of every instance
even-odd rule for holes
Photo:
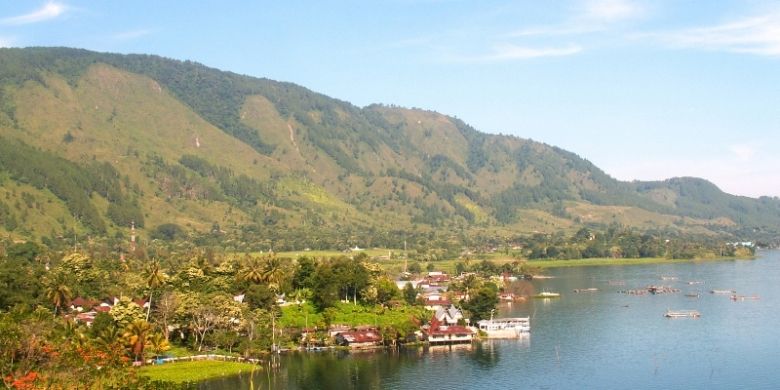
[[[530,277],[530,276],[527,276]],[[527,295],[520,295],[510,292],[508,286],[522,281],[523,277],[512,276],[509,273],[503,273],[499,276],[483,278],[476,272],[463,272],[456,277],[452,277],[442,271],[428,271],[418,275],[410,272],[402,272],[399,279],[395,280],[395,285],[399,291],[414,291],[413,302],[425,309],[427,317],[414,318],[416,326],[412,332],[403,335],[402,339],[388,338],[387,332],[377,325],[372,324],[342,324],[333,323],[325,327],[304,327],[301,329],[285,329],[273,324],[271,337],[279,336],[284,339],[285,334],[296,334],[293,343],[272,342],[272,352],[286,352],[292,350],[323,350],[323,349],[348,349],[348,350],[367,350],[386,347],[398,347],[400,345],[453,345],[468,344],[476,340],[487,338],[518,338],[528,335],[530,332],[530,320],[527,317],[521,318],[493,318],[496,312],[496,304],[523,301]],[[462,309],[463,303],[470,301],[470,286],[482,286],[489,283],[492,286],[502,286],[498,289],[493,300],[488,300],[490,317],[481,318],[476,321],[470,320]],[[411,290],[410,290],[411,289]],[[237,294],[233,296],[233,301],[237,304],[245,304],[246,294]],[[344,299],[342,304],[354,304],[350,299]],[[278,294],[275,296],[274,305],[278,306],[282,313],[288,309],[294,309],[304,305],[304,299],[291,298],[287,294]],[[392,304],[392,303],[391,303]],[[111,315],[115,320],[132,313],[146,312],[150,313],[150,302],[147,299],[127,297],[110,297],[103,300],[94,300],[84,297],[72,299],[65,308],[65,317],[76,321],[77,323],[91,327],[92,324],[101,315]],[[128,314],[129,313],[129,314]],[[468,311],[466,312],[468,313]],[[476,314],[476,313],[475,313]],[[484,314],[484,313],[483,313]],[[282,314],[284,315],[284,314]],[[234,323],[238,328],[241,320],[231,318],[229,322]],[[181,331],[175,324],[168,325],[168,333],[174,334]],[[181,333],[181,332],[180,332]],[[182,337],[183,337],[183,333]],[[152,346],[154,349],[154,346]],[[164,352],[162,350],[158,352]],[[164,355],[161,355],[164,357]],[[154,355],[149,362],[163,361],[163,358]]]

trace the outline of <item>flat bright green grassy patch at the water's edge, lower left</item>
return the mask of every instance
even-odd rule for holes
[[[237,375],[242,372],[249,373],[257,368],[249,363],[201,360],[146,366],[139,370],[139,375],[148,377],[152,381],[185,383]]]

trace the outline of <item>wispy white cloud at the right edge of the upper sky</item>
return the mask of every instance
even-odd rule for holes
[[[780,12],[644,36],[673,47],[780,56]]]

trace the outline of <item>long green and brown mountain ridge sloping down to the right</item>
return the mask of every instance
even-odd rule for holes
[[[133,222],[312,247],[613,223],[749,237],[777,232],[780,200],[621,182],[454,117],[190,61],[0,49],[0,231],[119,237]]]

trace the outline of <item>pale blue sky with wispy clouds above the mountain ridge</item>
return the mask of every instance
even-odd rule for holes
[[[775,1],[5,1],[0,46],[193,60],[454,115],[622,180],[780,196]]]

